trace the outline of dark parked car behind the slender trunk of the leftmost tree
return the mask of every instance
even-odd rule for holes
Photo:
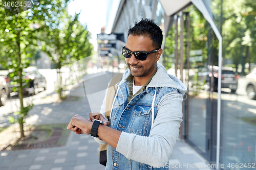
[[[24,93],[25,96],[31,95],[31,94],[37,94],[39,92],[39,89],[44,88],[46,90],[46,79],[44,76],[42,76],[38,71],[36,67],[28,67],[23,70],[25,72],[24,78],[29,80],[28,84],[24,84]],[[12,74],[12,71],[9,71],[9,74],[6,76],[6,82],[8,85],[8,89],[10,91],[9,96],[13,95],[11,92],[13,92],[13,87],[17,87],[18,85],[13,85],[11,82],[13,80],[17,80],[18,76],[14,76],[13,80],[10,79],[10,74]]]

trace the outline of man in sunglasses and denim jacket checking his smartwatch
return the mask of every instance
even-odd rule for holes
[[[122,48],[129,69],[117,84],[111,127],[104,114],[107,99],[100,113],[90,113],[90,120],[103,121],[97,140],[109,144],[106,169],[168,169],[164,165],[178,140],[181,103],[187,89],[157,63],[163,52],[162,39],[162,31],[152,19],[142,19],[129,28]],[[90,134],[90,120],[75,115],[68,129]]]

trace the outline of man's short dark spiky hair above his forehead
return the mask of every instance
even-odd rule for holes
[[[153,46],[161,48],[163,41],[163,32],[155,23],[154,19],[141,19],[139,22],[134,22],[134,27],[128,29],[128,36],[149,36],[153,41]]]

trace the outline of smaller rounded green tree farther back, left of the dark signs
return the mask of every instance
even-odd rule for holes
[[[49,32],[42,32],[41,36],[47,39],[40,40],[41,50],[50,56],[57,70],[59,98],[63,97],[61,66],[90,56],[93,49],[93,45],[89,42],[90,33],[87,27],[79,22],[79,14],[72,17],[67,11],[63,11],[62,17],[59,27],[48,24]]]

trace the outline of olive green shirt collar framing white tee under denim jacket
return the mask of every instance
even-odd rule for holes
[[[132,76],[132,74],[130,74],[125,80],[129,81],[130,83],[128,83],[128,86],[130,88],[129,91],[129,96],[128,96],[128,100],[127,100],[127,104],[134,98],[135,95],[137,95],[138,93],[140,93],[141,91],[144,91],[146,89],[146,86],[150,83],[151,79],[153,78],[153,76],[155,76],[157,72],[156,71],[153,73],[153,75],[147,80],[147,82],[135,93],[133,94],[133,79],[134,77]],[[127,105],[126,104],[126,105]]]

